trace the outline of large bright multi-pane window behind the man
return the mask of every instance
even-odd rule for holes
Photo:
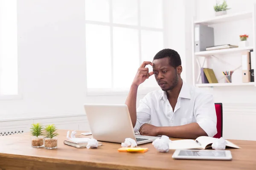
[[[85,0],[85,24],[88,91],[127,91],[164,46],[162,0]],[[154,76],[140,85],[157,86]]]

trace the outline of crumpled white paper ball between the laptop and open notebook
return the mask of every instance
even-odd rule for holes
[[[159,152],[168,152],[169,143],[172,142],[168,136],[161,136],[161,138],[155,139],[152,144]]]

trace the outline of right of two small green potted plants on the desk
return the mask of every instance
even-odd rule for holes
[[[55,149],[58,147],[58,133],[55,125],[47,125],[44,128],[44,148]]]

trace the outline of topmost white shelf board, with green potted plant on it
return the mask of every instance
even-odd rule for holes
[[[213,17],[209,20],[198,20],[198,21],[195,21],[194,23],[195,24],[211,25],[211,24],[218,24],[218,23],[224,23],[224,22],[231,22],[231,21],[237,21],[237,20],[251,18],[252,14],[253,13],[251,11],[245,11],[245,12],[236,13],[236,14],[221,15],[218,17]]]

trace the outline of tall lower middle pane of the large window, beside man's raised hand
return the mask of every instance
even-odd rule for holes
[[[114,88],[129,88],[139,67],[138,30],[113,28]]]

